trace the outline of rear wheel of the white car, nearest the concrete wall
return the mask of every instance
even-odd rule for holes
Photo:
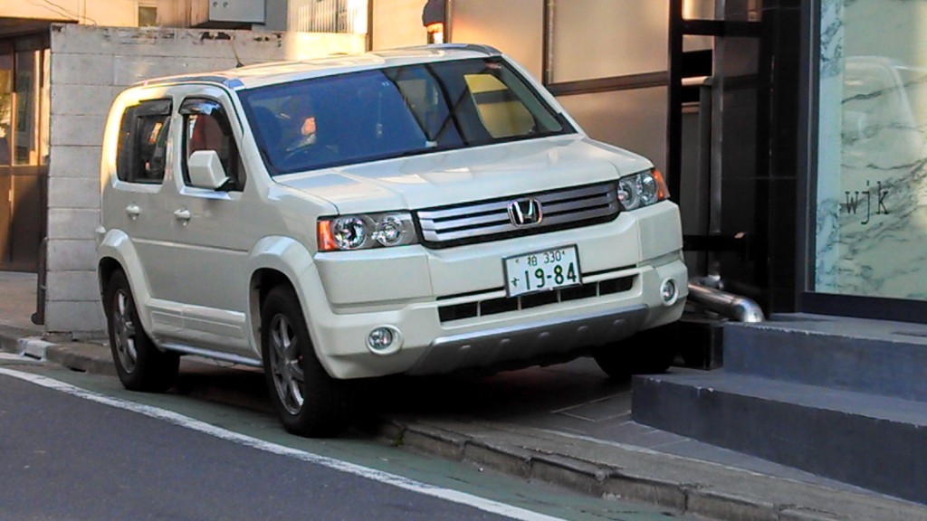
[[[121,270],[109,277],[104,302],[109,349],[122,387],[147,392],[171,388],[177,379],[180,355],[159,350],[148,337],[138,319],[129,280]]]

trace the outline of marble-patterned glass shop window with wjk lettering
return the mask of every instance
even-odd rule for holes
[[[927,2],[821,17],[815,290],[927,299]]]

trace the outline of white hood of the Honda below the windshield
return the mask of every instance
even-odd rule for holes
[[[557,136],[387,159],[275,180],[322,197],[340,214],[420,210],[613,181],[653,165],[583,136]]]

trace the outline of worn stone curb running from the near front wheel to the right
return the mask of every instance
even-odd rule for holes
[[[461,424],[462,426],[470,424]],[[431,454],[603,498],[646,503],[667,509],[670,515],[697,515],[729,521],[913,521],[927,519],[922,505],[877,494],[828,489],[780,477],[699,462],[689,458],[601,446],[602,451],[624,452],[626,458],[649,458],[666,464],[662,472],[642,473],[620,465],[591,462],[566,453],[530,448],[490,436],[482,438],[413,420],[378,418],[362,429],[385,442],[410,451]],[[463,430],[466,430],[464,427]],[[555,433],[548,433],[557,438]],[[566,438],[565,438],[566,439]],[[565,451],[566,452],[566,451]],[[649,452],[649,453],[648,453]],[[604,455],[604,453],[603,453]],[[676,463],[701,465],[712,472],[679,472]],[[741,484],[742,486],[738,486]],[[768,492],[768,489],[775,489]],[[729,489],[733,491],[729,491]],[[746,493],[739,493],[743,489]],[[749,492],[756,491],[751,494]],[[778,501],[764,497],[778,496]],[[829,498],[829,501],[820,501]],[[818,501],[816,501],[818,500]]]

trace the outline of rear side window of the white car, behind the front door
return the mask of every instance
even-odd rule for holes
[[[171,100],[143,101],[122,113],[116,175],[127,183],[164,180]]]

